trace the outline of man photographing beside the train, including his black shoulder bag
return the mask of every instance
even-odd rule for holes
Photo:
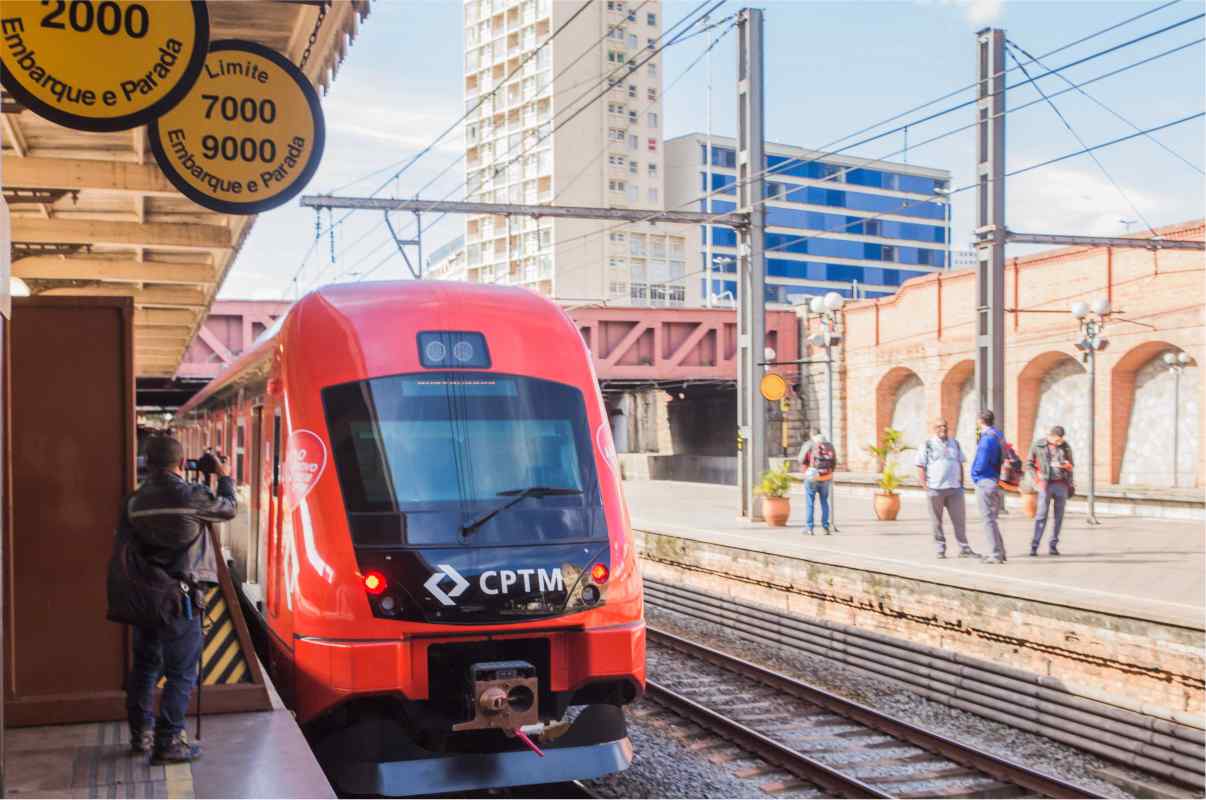
[[[218,583],[210,522],[233,519],[234,481],[226,460],[206,454],[203,469],[218,475],[217,496],[185,480],[185,450],[169,436],[147,442],[150,474],[122,508],[109,574],[109,619],[134,629],[127,682],[130,749],[152,764],[200,758],[185,734],[185,712],[197,684],[205,592]],[[154,687],[165,678],[156,719]]]

